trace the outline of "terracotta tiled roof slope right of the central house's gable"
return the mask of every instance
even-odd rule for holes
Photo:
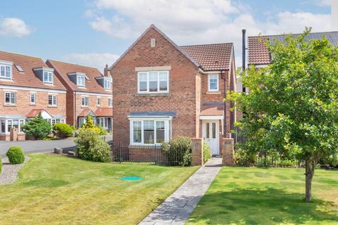
[[[232,43],[180,46],[201,67],[208,70],[229,70],[232,58]]]

